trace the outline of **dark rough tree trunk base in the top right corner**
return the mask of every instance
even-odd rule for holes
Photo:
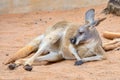
[[[109,0],[107,7],[103,10],[103,13],[113,13],[120,16],[120,0]]]

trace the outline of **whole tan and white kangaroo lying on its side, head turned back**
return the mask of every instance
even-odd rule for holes
[[[95,28],[103,19],[94,20],[94,15],[94,9],[88,10],[85,14],[85,24],[82,26],[66,21],[56,23],[15,53],[5,64],[12,63],[9,65],[10,69],[23,64],[25,70],[31,71],[35,60],[57,62],[77,59],[75,65],[81,65],[87,61],[105,59],[102,41]],[[38,50],[32,57],[20,59],[36,49]]]

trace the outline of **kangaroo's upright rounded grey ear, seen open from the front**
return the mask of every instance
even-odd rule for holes
[[[93,23],[94,22],[94,16],[95,16],[95,9],[89,9],[85,13],[85,24]]]

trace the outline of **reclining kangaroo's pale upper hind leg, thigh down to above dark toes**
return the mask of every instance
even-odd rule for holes
[[[48,51],[51,52],[52,50],[52,46],[58,44],[58,46],[56,46],[56,48],[59,48],[59,44],[60,44],[60,38],[61,38],[62,34],[59,33],[59,31],[54,31],[51,32],[49,35],[47,35],[44,40],[41,42],[41,44],[39,45],[39,49],[38,51],[31,57],[29,58],[24,66],[29,65],[31,66],[32,63],[34,62],[34,60],[38,57],[41,56],[44,52]]]

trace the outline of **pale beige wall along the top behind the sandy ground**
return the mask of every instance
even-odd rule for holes
[[[0,0],[0,14],[66,10],[107,3],[108,0]]]

